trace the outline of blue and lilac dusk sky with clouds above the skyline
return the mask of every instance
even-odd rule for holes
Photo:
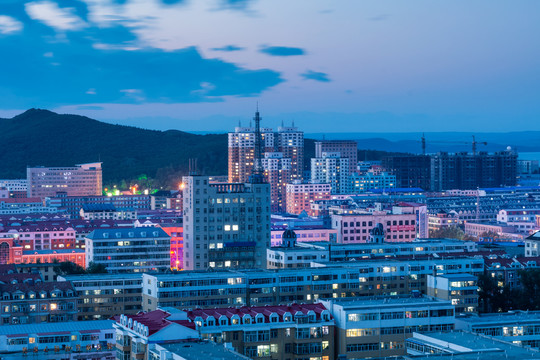
[[[537,0],[1,0],[0,117],[540,130]]]

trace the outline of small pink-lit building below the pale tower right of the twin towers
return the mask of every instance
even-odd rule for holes
[[[287,184],[286,209],[289,214],[307,212],[315,216],[311,204],[317,200],[329,200],[332,186],[330,184],[302,183],[295,181]]]

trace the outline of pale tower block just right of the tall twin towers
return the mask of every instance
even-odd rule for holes
[[[333,194],[352,191],[349,159],[338,152],[323,152],[322,157],[311,159],[311,181],[327,183]]]

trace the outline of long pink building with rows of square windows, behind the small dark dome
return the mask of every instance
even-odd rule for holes
[[[416,214],[373,211],[365,214],[332,215],[332,228],[340,244],[365,243],[369,231],[382,224],[386,242],[406,242],[416,238]]]

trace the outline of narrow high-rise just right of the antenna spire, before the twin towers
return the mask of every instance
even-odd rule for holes
[[[261,159],[264,177],[270,184],[270,210],[273,213],[285,211],[285,195],[287,184],[292,178],[292,159],[284,158],[283,153],[271,152]]]

